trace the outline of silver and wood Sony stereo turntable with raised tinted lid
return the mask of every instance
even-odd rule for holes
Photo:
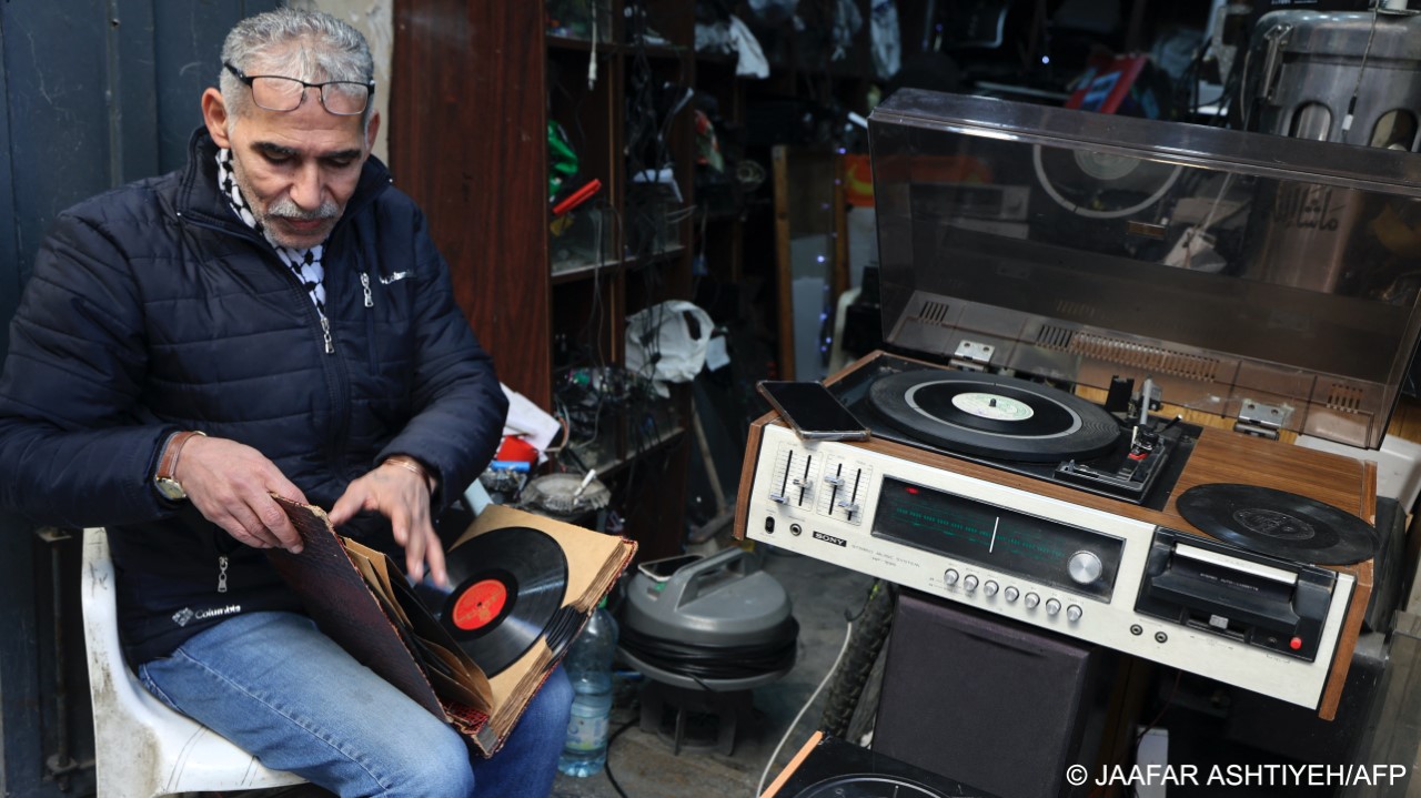
[[[737,535],[1333,717],[1376,466],[1290,440],[1385,434],[1418,159],[912,89],[870,133],[892,354],[826,383],[872,437],[756,420]],[[1312,246],[1347,277],[1268,263]]]

